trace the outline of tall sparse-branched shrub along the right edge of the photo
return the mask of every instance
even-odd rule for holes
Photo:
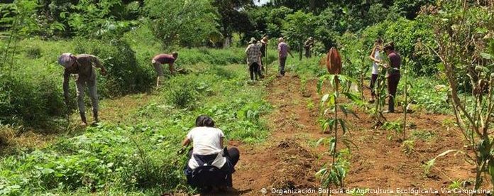
[[[494,63],[490,60],[493,54],[488,54],[493,51],[485,48],[489,43],[484,39],[488,32],[494,31],[493,5],[449,2],[429,11],[431,14],[427,20],[434,24],[437,49],[429,48],[444,65],[449,84],[448,96],[456,122],[471,146],[468,149],[475,155],[474,159],[470,159],[476,165],[475,188],[478,189],[483,183],[483,174],[490,175],[491,183],[494,183],[494,157],[491,153],[494,141],[489,131],[494,111]],[[471,37],[472,34],[478,36]],[[459,83],[463,78],[468,78],[468,85],[472,87],[473,102],[462,102],[459,97]],[[449,150],[439,156],[450,152],[461,151]],[[461,153],[468,157],[468,153]],[[433,164],[435,159],[430,163]]]

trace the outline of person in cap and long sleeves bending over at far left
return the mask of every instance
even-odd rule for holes
[[[63,96],[65,104],[69,103],[69,80],[70,75],[76,75],[75,90],[77,94],[77,107],[81,116],[82,126],[87,126],[87,119],[84,108],[84,88],[89,89],[89,97],[91,98],[93,123],[97,124],[98,119],[98,94],[96,88],[96,71],[94,68],[101,69],[101,75],[106,75],[106,69],[101,65],[101,62],[94,55],[72,55],[71,53],[63,53],[58,58],[58,63],[64,69],[63,73]],[[94,66],[94,67],[93,67]]]

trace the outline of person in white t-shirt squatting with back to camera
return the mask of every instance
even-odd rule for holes
[[[232,187],[231,174],[235,172],[240,153],[237,148],[223,148],[223,131],[214,127],[209,116],[198,116],[195,125],[182,142],[182,146],[193,144],[184,170],[187,183],[203,192],[226,191]]]

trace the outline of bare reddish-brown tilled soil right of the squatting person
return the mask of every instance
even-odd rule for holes
[[[317,141],[329,134],[323,134],[319,126],[320,96],[316,83],[307,82],[308,93],[302,93],[300,79],[287,75],[268,86],[266,99],[274,109],[265,116],[271,132],[265,144],[229,143],[241,151],[234,174],[235,195],[262,195],[263,188],[268,194],[276,195],[272,189],[317,190],[321,187],[314,174],[330,161],[330,156],[325,154],[328,147],[317,146]],[[367,90],[365,93],[368,96]],[[388,121],[402,119],[400,108],[395,114],[385,114]],[[359,119],[350,116],[346,119],[351,126],[347,137],[356,147],[351,147],[351,168],[344,189],[440,190],[449,187],[454,180],[474,180],[473,165],[461,154],[438,158],[428,173],[424,170],[424,163],[444,151],[467,151],[461,132],[450,126],[454,121],[452,116],[418,111],[410,114],[407,124],[412,126],[407,129],[407,138],[413,141],[413,147],[405,153],[401,134],[373,129],[370,115],[363,109],[356,110]],[[341,149],[344,144],[338,143],[338,146]],[[485,180],[485,184],[488,182]],[[468,183],[466,186],[471,187]]]

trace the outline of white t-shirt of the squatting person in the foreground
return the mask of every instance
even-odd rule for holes
[[[221,129],[207,126],[195,127],[187,134],[187,138],[192,141],[192,146],[194,147],[192,154],[202,156],[218,154],[212,163],[216,168],[221,168],[226,163],[226,158],[223,156],[223,148],[220,143],[221,138],[224,137],[225,135]],[[189,167],[192,170],[199,167],[199,164],[197,164],[197,161],[193,156],[189,160]]]

